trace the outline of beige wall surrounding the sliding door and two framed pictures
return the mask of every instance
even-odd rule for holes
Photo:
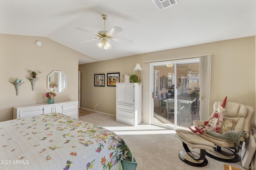
[[[133,68],[140,63],[142,82],[142,121],[150,123],[149,62],[165,61],[212,54],[212,72],[210,84],[210,110],[214,101],[222,101],[228,96],[228,101],[242,103],[255,107],[255,39],[245,37],[202,45],[194,45],[142,55],[122,57],[108,61],[82,64],[81,71],[81,107],[116,114],[116,89],[114,87],[95,87],[94,74],[120,72],[120,82],[124,81],[122,74],[134,74]],[[86,104],[85,104],[86,102]],[[255,127],[255,117],[252,120]]]

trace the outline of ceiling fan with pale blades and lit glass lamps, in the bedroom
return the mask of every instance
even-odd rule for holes
[[[79,42],[83,43],[83,42],[88,42],[88,41],[94,41],[94,40],[100,40],[101,39],[102,41],[100,41],[100,43],[98,43],[97,45],[100,48],[103,47],[103,49],[111,49],[112,48],[109,40],[125,42],[125,43],[129,43],[129,44],[133,43],[133,41],[128,40],[128,39],[112,37],[113,35],[123,31],[123,29],[116,26],[116,27],[110,29],[110,31],[106,31],[106,19],[108,19],[108,16],[106,14],[102,14],[101,16],[104,20],[104,31],[98,31],[98,33],[94,33],[92,31],[88,31],[88,30],[85,30],[85,29],[82,29],[82,28],[76,28],[80,31],[84,31],[84,32],[91,33],[93,35],[98,36],[97,38],[86,39],[86,40],[82,40],[82,41],[79,41]]]

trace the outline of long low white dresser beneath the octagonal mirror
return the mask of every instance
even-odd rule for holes
[[[69,100],[54,102],[54,104],[43,103],[13,107],[13,119],[47,113],[62,113],[70,117],[78,118],[78,101]]]

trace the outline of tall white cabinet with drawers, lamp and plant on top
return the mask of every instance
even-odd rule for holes
[[[136,126],[142,122],[142,84],[116,83],[116,121]]]

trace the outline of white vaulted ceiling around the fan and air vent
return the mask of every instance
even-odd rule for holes
[[[75,28],[104,30],[102,14],[107,31],[121,27],[114,37],[133,43],[80,43],[96,36]],[[0,33],[47,37],[91,57],[82,64],[254,36],[256,0],[178,0],[161,11],[152,0],[1,0],[0,23]]]

